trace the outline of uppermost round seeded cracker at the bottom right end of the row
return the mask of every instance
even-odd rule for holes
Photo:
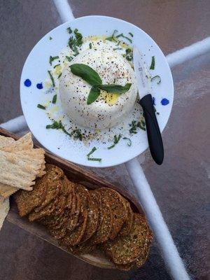
[[[148,225],[143,215],[134,214],[132,230],[126,237],[116,237],[113,241],[106,241],[104,251],[111,260],[118,265],[133,262],[144,248],[148,236]]]

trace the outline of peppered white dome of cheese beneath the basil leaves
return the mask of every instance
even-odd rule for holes
[[[97,101],[87,105],[89,85],[73,75],[69,64],[62,71],[59,81],[59,96],[62,108],[77,125],[102,130],[121,123],[134,108],[137,99],[137,83],[130,63],[118,52],[100,43],[98,48],[80,52],[70,64],[87,64],[99,73],[103,84],[125,85],[132,83],[125,94],[101,91]]]

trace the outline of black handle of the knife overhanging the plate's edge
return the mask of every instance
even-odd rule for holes
[[[162,165],[164,158],[164,148],[162,144],[162,137],[158,125],[158,120],[155,116],[151,94],[147,94],[143,98],[141,98],[140,105],[142,106],[144,111],[146,132],[151,155],[153,157],[153,160],[155,160],[158,165]]]

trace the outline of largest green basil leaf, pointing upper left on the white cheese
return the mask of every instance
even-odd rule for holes
[[[74,75],[83,78],[90,85],[102,85],[102,79],[99,74],[90,66],[85,64],[72,64],[70,69]]]

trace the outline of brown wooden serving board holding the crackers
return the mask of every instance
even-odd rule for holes
[[[18,140],[20,138],[17,135],[2,129],[1,127],[0,127],[0,135],[6,137],[12,137],[15,140]],[[118,193],[120,193],[121,195],[123,195],[123,197],[125,197],[128,201],[130,201],[132,210],[134,212],[139,212],[141,214],[144,214],[144,211],[142,210],[141,205],[137,202],[137,200],[134,197],[132,197],[129,193],[127,193],[125,190],[122,190],[120,186],[115,186],[109,183],[108,181],[100,178],[99,176],[96,176],[91,172],[87,172],[87,170],[78,167],[77,165],[73,165],[73,163],[63,160],[62,158],[58,158],[57,156],[52,155],[47,151],[45,151],[45,161],[47,163],[50,163],[52,165],[57,165],[58,167],[60,167],[64,171],[64,174],[66,174],[66,176],[69,178],[69,180],[81,183],[89,189],[93,190],[96,188],[106,187],[106,188],[113,188],[114,190],[117,190]],[[16,204],[13,201],[13,197],[11,197],[10,199],[10,211],[7,216],[7,220],[10,223],[18,225],[20,228],[27,230],[33,235],[36,235],[41,239],[48,241],[50,244],[53,244],[61,248],[57,240],[52,238],[48,234],[48,231],[45,229],[45,227],[39,225],[38,223],[31,223],[28,221],[27,218],[20,218]],[[64,250],[64,248],[61,249]],[[71,252],[68,251],[68,253]],[[99,250],[96,250],[90,254],[75,255],[75,256],[76,258],[79,258],[80,260],[84,260],[85,262],[88,262],[91,265],[95,265],[97,267],[116,268],[113,265],[113,263],[108,258],[106,258],[106,255],[104,255],[104,253],[102,253],[102,251]]]

